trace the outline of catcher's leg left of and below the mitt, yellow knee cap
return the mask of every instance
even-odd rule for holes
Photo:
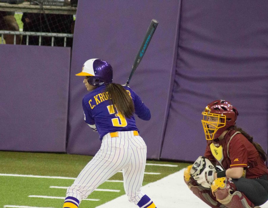
[[[183,179],[184,182],[188,185],[188,188],[202,201],[204,201],[206,204],[208,204],[210,207],[213,208],[225,208],[223,204],[220,204],[218,201],[216,201],[216,197],[211,195],[211,191],[208,189],[205,189],[204,187],[201,187],[200,185],[195,182],[193,178],[191,178],[190,175],[190,169],[192,166],[188,166],[184,170]]]

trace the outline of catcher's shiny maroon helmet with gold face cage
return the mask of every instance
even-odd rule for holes
[[[238,111],[226,100],[215,100],[205,107],[202,115],[203,119],[201,121],[206,140],[213,140],[218,138],[230,126],[236,124]],[[209,117],[212,119],[209,120]]]

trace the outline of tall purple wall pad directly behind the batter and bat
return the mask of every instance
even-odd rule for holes
[[[99,135],[84,122],[82,98],[87,93],[82,70],[87,59],[104,59],[113,67],[116,83],[124,84],[152,19],[159,21],[130,87],[150,108],[150,121],[137,120],[148,158],[159,158],[168,104],[173,56],[177,47],[180,1],[79,1],[70,73],[67,152],[94,155]]]

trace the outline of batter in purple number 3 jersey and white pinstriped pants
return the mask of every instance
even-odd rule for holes
[[[130,202],[141,208],[156,208],[141,192],[147,147],[139,136],[134,113],[143,120],[151,114],[141,98],[129,87],[112,83],[113,69],[101,59],[89,59],[77,76],[90,93],[82,101],[84,119],[97,131],[101,147],[68,187],[64,208],[77,208],[99,185],[123,170],[124,190]]]

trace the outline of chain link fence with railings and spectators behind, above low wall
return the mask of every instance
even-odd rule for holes
[[[72,47],[78,0],[0,0],[0,44]]]

